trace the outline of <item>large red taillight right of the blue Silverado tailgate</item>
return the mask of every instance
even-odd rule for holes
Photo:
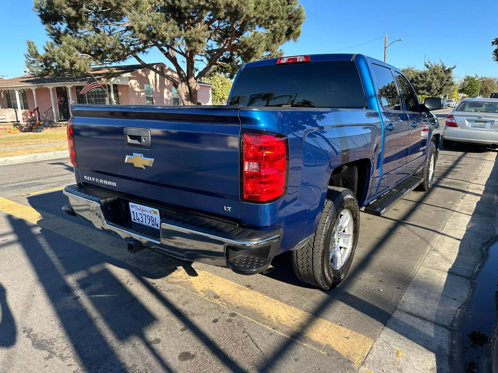
[[[287,141],[258,133],[244,134],[244,199],[269,201],[280,197],[287,181]]]

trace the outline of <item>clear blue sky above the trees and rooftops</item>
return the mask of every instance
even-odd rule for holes
[[[23,74],[26,39],[41,47],[47,39],[32,0],[0,0],[2,19],[0,74]],[[306,11],[301,37],[285,43],[286,55],[336,51],[383,59],[383,35],[403,38],[387,49],[387,62],[398,68],[431,61],[457,65],[455,74],[498,76],[491,41],[498,37],[497,0],[300,0]],[[374,38],[370,43],[358,45]],[[392,41],[393,39],[389,39]],[[389,41],[389,42],[390,42]],[[347,48],[347,49],[342,49]],[[146,62],[162,61],[160,53]],[[127,63],[136,63],[134,59]],[[8,79],[7,78],[7,79]]]

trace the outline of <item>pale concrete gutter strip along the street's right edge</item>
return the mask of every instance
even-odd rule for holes
[[[496,156],[489,153],[467,184],[361,373],[464,372],[463,319],[497,235]]]

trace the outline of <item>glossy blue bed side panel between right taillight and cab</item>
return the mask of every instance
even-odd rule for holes
[[[287,193],[267,204],[241,202],[242,224],[284,229],[279,252],[293,248],[315,231],[336,167],[369,159],[370,169],[376,168],[381,140],[376,111],[241,107],[240,119],[244,130],[281,133],[289,140]]]

